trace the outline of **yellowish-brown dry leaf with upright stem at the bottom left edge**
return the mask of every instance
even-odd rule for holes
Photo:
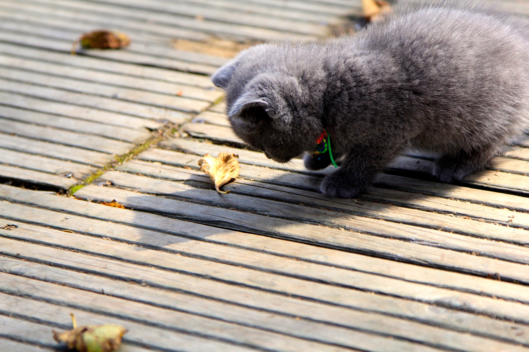
[[[127,330],[115,324],[88,325],[77,327],[75,316],[70,314],[74,328],[65,332],[52,330],[53,339],[64,342],[69,349],[79,352],[112,352],[121,345]]]

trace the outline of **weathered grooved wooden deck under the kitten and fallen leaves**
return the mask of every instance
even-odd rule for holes
[[[359,13],[0,0],[0,351],[63,350],[71,312],[127,328],[122,352],[529,351],[529,139],[457,185],[408,155],[327,198],[331,168],[273,163],[227,127],[207,77],[227,57],[175,49],[314,39]],[[69,54],[100,27],[132,45]],[[223,151],[241,163],[227,195],[197,164]]]

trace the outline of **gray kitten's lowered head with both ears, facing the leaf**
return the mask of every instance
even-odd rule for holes
[[[226,92],[235,134],[280,163],[313,150],[322,133],[325,74],[313,49],[309,44],[254,46],[212,76]]]

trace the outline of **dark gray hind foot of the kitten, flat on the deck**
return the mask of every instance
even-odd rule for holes
[[[445,154],[435,162],[433,174],[441,182],[460,181],[491,166],[491,159],[497,155],[498,148],[496,146],[482,147],[471,151],[460,150],[456,154]]]

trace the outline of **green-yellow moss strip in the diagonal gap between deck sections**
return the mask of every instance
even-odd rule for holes
[[[168,137],[168,135],[174,134],[174,131],[177,131],[178,126],[174,125],[172,123],[168,123],[165,126],[162,126],[159,129],[153,130],[151,132],[151,136],[145,140],[143,143],[136,145],[134,148],[132,148],[130,151],[128,151],[125,154],[118,155],[114,158],[114,160],[110,161],[107,165],[104,167],[97,169],[92,174],[88,175],[85,179],[83,179],[81,182],[71,186],[68,189],[68,196],[74,195],[79,189],[91,184],[94,182],[97,178],[99,178],[101,175],[106,173],[107,171],[110,171],[114,169],[116,166],[123,164],[125,161],[135,157],[136,155],[140,154],[145,149],[148,149],[151,145],[158,143],[162,139],[165,139]]]

